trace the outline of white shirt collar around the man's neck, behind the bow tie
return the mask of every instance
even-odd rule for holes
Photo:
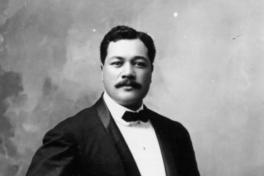
[[[128,109],[124,106],[121,106],[120,104],[118,104],[117,102],[115,102],[108,94],[106,91],[104,91],[103,94],[103,98],[104,101],[112,115],[112,117],[114,118],[115,121],[117,121],[118,123],[124,125],[124,126],[129,126],[129,125],[133,125],[138,123],[138,121],[136,122],[126,122],[122,119],[122,116],[125,114],[126,111],[130,111],[130,112],[139,112],[141,110],[143,110],[143,103],[141,104],[140,108],[137,109],[136,111],[132,111],[131,109]]]

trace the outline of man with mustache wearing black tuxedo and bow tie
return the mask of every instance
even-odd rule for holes
[[[155,53],[146,33],[108,32],[100,46],[104,93],[45,134],[27,176],[199,176],[187,130],[142,103]]]

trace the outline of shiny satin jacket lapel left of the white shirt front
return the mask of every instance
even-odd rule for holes
[[[118,129],[114,119],[112,118],[107,106],[103,100],[103,96],[95,103],[95,109],[100,120],[103,123],[104,128],[112,139],[116,150],[121,159],[126,176],[140,176],[139,170],[136,166],[132,153]],[[111,162],[111,161],[110,161]]]

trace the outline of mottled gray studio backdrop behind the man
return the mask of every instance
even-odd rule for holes
[[[263,0],[0,0],[0,176],[103,91],[116,25],[153,36],[145,104],[190,132],[202,176],[264,176]]]

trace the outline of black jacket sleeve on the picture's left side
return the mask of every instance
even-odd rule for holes
[[[78,170],[75,158],[74,137],[70,133],[52,129],[35,153],[26,176],[73,176]]]

